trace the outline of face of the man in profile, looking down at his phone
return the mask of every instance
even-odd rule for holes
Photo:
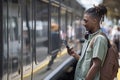
[[[92,18],[89,14],[84,14],[83,17],[83,25],[87,29],[87,31],[91,31],[94,28],[94,18]]]

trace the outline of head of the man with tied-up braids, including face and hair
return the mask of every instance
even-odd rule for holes
[[[88,31],[92,31],[95,28],[100,27],[100,22],[103,21],[104,15],[107,13],[107,9],[103,5],[94,6],[85,11],[83,17],[83,25]]]

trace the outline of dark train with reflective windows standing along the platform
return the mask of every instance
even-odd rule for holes
[[[84,10],[76,0],[0,0],[0,80],[24,80],[26,71],[34,80],[34,65],[52,52],[51,24],[61,40],[75,40],[68,29]]]

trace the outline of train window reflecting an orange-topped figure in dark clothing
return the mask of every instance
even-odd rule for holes
[[[59,8],[51,6],[51,51],[59,49]],[[55,35],[56,34],[56,35]]]

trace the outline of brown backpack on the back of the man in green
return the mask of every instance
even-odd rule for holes
[[[118,50],[115,44],[110,43],[109,39],[104,33],[100,33],[99,35],[105,36],[108,41],[107,54],[103,66],[100,69],[100,80],[114,80],[114,78],[117,76],[119,68]],[[91,46],[93,46],[93,41]]]

